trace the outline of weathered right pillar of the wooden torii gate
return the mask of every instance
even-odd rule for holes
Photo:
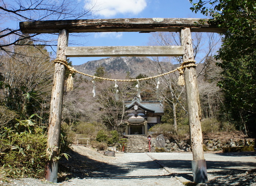
[[[184,28],[180,32],[181,45],[184,47],[183,61],[194,60],[190,28]],[[193,62],[191,62],[193,63]],[[186,63],[188,65],[189,63]],[[201,109],[196,80],[196,68],[186,67],[184,69],[186,86],[186,97],[188,103],[188,120],[190,129],[190,143],[193,153],[192,172],[196,183],[208,182],[206,161],[203,151],[203,137],[201,129]]]

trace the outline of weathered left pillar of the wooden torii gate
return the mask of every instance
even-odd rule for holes
[[[65,49],[67,45],[68,31],[62,29],[59,32],[56,58],[66,60]],[[45,168],[45,179],[50,182],[57,182],[58,178],[58,160],[55,157],[59,155],[64,79],[65,66],[55,63],[46,150],[50,160],[46,163]]]

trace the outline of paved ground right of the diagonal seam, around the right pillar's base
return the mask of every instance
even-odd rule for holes
[[[193,181],[191,152],[150,153],[150,156],[163,164],[168,172]],[[209,181],[207,186],[256,186],[256,152],[204,153],[204,157]]]

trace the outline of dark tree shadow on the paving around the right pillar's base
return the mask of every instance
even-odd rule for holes
[[[193,182],[191,161],[161,160],[160,162],[170,168],[173,171],[171,173],[178,173],[178,176]],[[213,177],[207,183],[208,186],[230,184],[248,186],[256,182],[256,162],[206,161],[206,166],[208,175]]]

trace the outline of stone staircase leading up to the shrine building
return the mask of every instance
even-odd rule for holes
[[[145,135],[125,135],[127,145],[124,148],[126,153],[148,152],[148,137]]]

